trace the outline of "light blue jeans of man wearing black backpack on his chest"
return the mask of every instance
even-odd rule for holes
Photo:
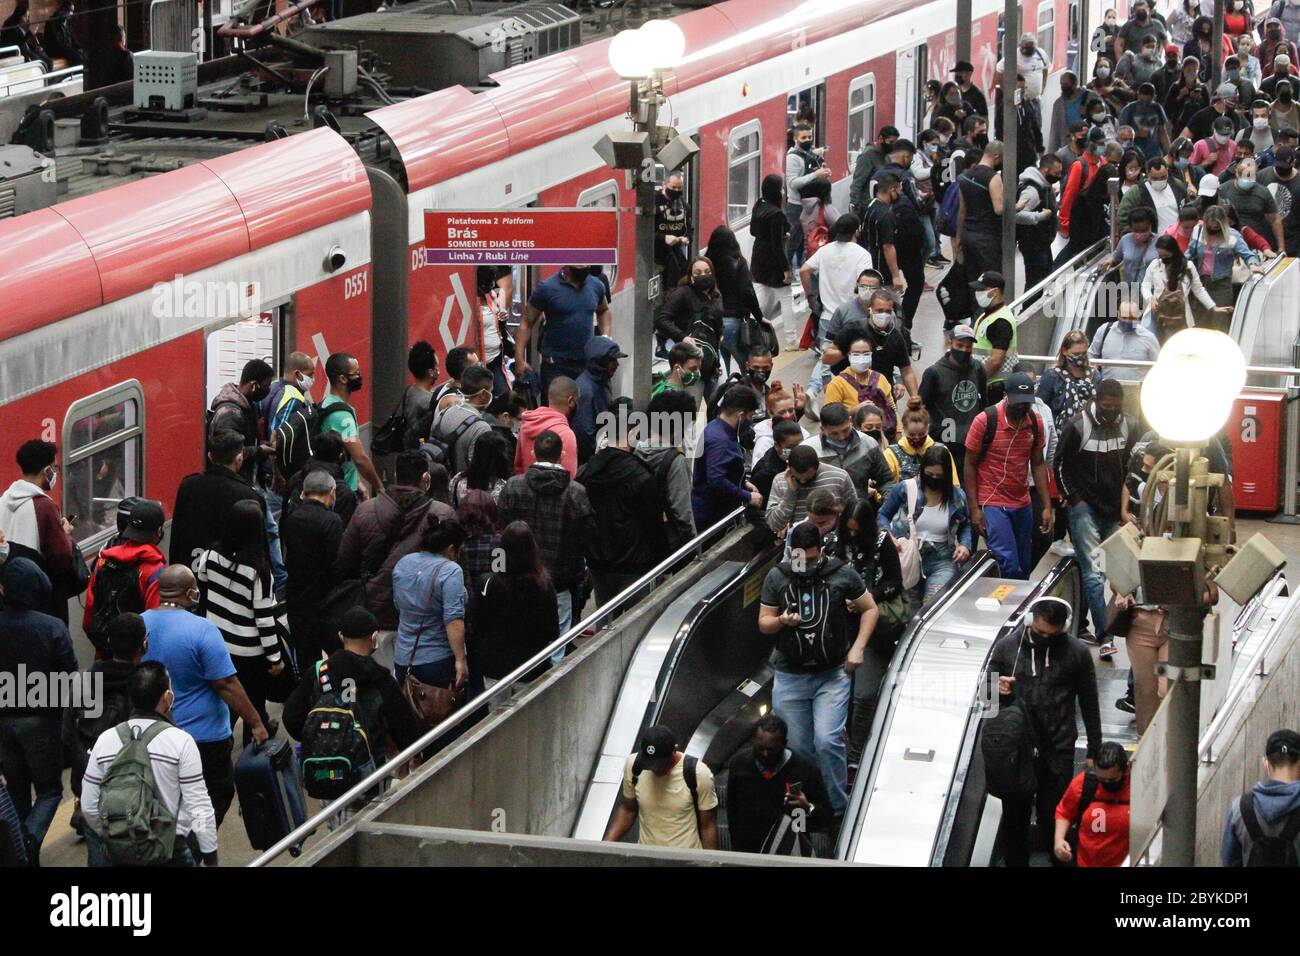
[[[838,665],[815,674],[776,671],[772,682],[772,710],[789,724],[790,749],[816,761],[837,817],[849,804],[844,727],[852,684]]]

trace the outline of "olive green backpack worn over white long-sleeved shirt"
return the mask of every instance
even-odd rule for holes
[[[117,724],[122,749],[99,790],[100,835],[118,866],[160,866],[176,847],[176,814],[162,803],[150,763],[150,744],[172,724],[155,721],[140,731]]]

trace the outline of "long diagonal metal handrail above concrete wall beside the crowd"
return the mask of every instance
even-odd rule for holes
[[[682,561],[684,558],[689,558],[692,554],[702,557],[703,549],[707,545],[714,544],[718,538],[725,536],[727,532],[734,528],[737,523],[744,518],[744,514],[745,509],[738,507],[729,515],[723,518],[720,522],[714,524],[711,528],[707,528],[706,531],[701,532],[694,538],[684,544],[676,551],[673,551],[667,558],[660,561],[658,564],[655,564],[653,568],[646,571],[633,584],[621,591],[618,594],[618,597],[615,597],[612,601],[610,601],[606,605],[602,605],[601,607],[597,607],[590,617],[571,627],[567,632],[560,635],[558,640],[552,641],[542,650],[538,650],[536,654],[528,658],[528,661],[515,667],[515,670],[512,670],[510,674],[507,674],[495,684],[493,684],[490,688],[488,688],[488,691],[478,695],[471,701],[465,701],[465,704],[462,705],[454,714],[451,714],[451,717],[439,723],[437,727],[433,727],[432,730],[426,731],[419,740],[408,745],[395,757],[390,758],[386,763],[384,763],[380,767],[376,767],[376,770],[372,771],[369,777],[367,777],[355,787],[352,787],[350,791],[339,795],[337,799],[332,800],[328,805],[317,810],[317,813],[309,817],[302,826],[299,826],[296,830],[294,830],[287,836],[281,839],[273,847],[266,849],[261,856],[259,856],[248,865],[265,866],[272,860],[283,853],[286,849],[296,852],[296,848],[299,848],[307,840],[307,838],[312,835],[312,832],[315,832],[317,829],[328,823],[330,817],[338,813],[338,808],[347,806],[354,800],[360,800],[365,797],[374,787],[386,783],[390,777],[394,777],[395,774],[402,771],[412,757],[417,756],[421,750],[424,750],[426,747],[438,740],[438,737],[448,734],[450,731],[463,724],[472,715],[478,714],[486,705],[497,700],[508,698],[510,695],[514,692],[516,684],[524,680],[524,678],[534,667],[546,663],[552,654],[566,648],[569,644],[569,641],[581,637],[582,632],[586,631],[588,628],[601,627],[615,614],[625,610],[630,605],[634,605],[638,600],[641,600],[642,592],[645,592],[646,588],[653,587],[659,579],[659,576],[671,571],[673,566],[677,564],[677,562]]]

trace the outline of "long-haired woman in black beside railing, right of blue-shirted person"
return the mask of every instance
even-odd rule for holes
[[[474,589],[469,614],[473,666],[488,682],[500,680],[560,636],[555,585],[525,522],[506,525],[500,550],[504,567]],[[528,679],[534,680],[549,666],[538,665]]]

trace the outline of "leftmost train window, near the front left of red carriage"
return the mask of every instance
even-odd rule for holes
[[[117,531],[117,502],[144,490],[144,390],[135,380],[74,402],[64,419],[64,514],[78,544]]]

